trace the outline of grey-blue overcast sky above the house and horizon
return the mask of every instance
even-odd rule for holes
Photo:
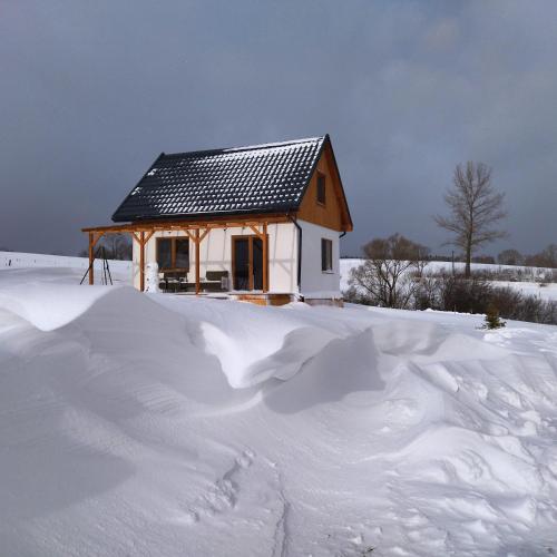
[[[431,215],[459,162],[509,246],[557,242],[557,2],[0,0],[0,246],[76,254],[160,152],[329,133],[344,254]]]

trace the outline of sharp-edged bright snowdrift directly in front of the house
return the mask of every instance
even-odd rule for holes
[[[304,304],[270,312],[242,302],[164,294],[152,299],[184,315],[192,335],[219,360],[234,388],[290,379],[333,340],[369,326],[365,321],[323,319]]]

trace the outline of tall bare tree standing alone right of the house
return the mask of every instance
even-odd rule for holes
[[[491,185],[491,169],[483,163],[457,165],[452,187],[444,195],[449,216],[434,216],[436,223],[452,233],[447,244],[465,252],[465,276],[470,276],[470,262],[476,247],[507,236],[495,227],[495,223],[507,213],[502,208],[505,194],[497,193]]]

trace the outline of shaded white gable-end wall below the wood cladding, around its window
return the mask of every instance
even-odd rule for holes
[[[306,297],[341,297],[339,232],[299,221],[302,228],[302,295]],[[321,271],[321,238],[333,243],[333,271]]]

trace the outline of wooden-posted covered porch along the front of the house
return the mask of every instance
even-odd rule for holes
[[[281,280],[274,281],[275,290],[276,286],[283,287],[280,292],[270,292],[270,228],[276,251],[276,231],[280,227],[281,238],[284,238],[285,231],[294,228],[293,219],[287,215],[265,215],[234,219],[135,222],[82,228],[88,235],[89,284],[95,284],[94,262],[99,241],[107,234],[129,234],[134,244],[135,285],[141,292],[146,290],[147,264],[157,261],[160,262],[159,284],[164,291],[195,295],[218,293],[223,297],[231,294],[250,301],[256,297],[286,300],[289,296],[287,302],[293,289],[284,287],[284,281],[282,284],[278,284]],[[290,232],[287,234],[291,235]],[[187,250],[183,251],[186,253],[176,255],[177,245],[185,245]],[[166,261],[165,250],[169,246],[168,263],[163,263]],[[202,255],[202,248],[206,255]],[[207,255],[209,251],[212,257]],[[215,252],[223,255],[215,257]],[[283,267],[289,264],[289,272],[294,272],[294,262],[280,261],[278,264]]]

